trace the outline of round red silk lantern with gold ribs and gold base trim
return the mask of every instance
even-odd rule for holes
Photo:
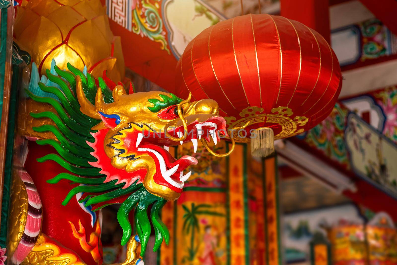
[[[268,127],[281,139],[326,118],[341,83],[338,60],[320,34],[285,17],[249,14],[217,23],[187,45],[173,92],[216,100],[229,128],[251,121],[247,135]]]

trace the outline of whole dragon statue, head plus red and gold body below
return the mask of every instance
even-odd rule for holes
[[[183,171],[198,163],[188,155],[175,159],[168,147],[191,143],[196,151],[200,140],[218,155],[207,141],[212,138],[216,144],[220,135],[228,136],[225,120],[211,99],[191,102],[191,95],[183,100],[160,91],[134,93],[132,84],[109,85],[71,64],[67,68],[53,65],[46,72],[48,79],[26,90],[29,98],[23,103],[26,111],[19,128],[22,122],[29,152],[25,148],[25,160],[15,165],[19,178],[14,178],[13,194],[19,194],[22,206],[13,209],[18,225],[10,232],[13,245],[8,251],[15,264],[100,264],[96,213],[118,203],[121,245],[127,244],[123,264],[143,264],[151,225],[153,250],[163,240],[168,244],[170,234],[160,210],[166,201],[179,198],[191,174]],[[230,154],[233,147],[234,141],[228,153],[218,156]],[[37,170],[26,160],[47,162]],[[56,199],[58,195],[64,196],[62,200]],[[91,225],[81,221],[80,213],[88,212]],[[44,231],[49,224],[52,228]],[[73,236],[62,238],[66,234]],[[83,251],[71,249],[73,240]],[[85,261],[85,253],[94,261]]]

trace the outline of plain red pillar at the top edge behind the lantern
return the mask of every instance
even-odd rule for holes
[[[281,0],[281,15],[303,23],[330,42],[328,0]]]

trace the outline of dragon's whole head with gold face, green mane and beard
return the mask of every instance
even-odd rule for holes
[[[208,143],[226,135],[225,120],[218,115],[218,104],[210,99],[190,102],[160,91],[127,94],[122,85],[110,90],[104,79],[83,72],[71,64],[69,71],[54,66],[46,72],[54,86],[38,83],[26,90],[38,103],[46,103],[54,112],[31,112],[34,119],[45,118],[49,124],[33,127],[38,133],[50,133],[49,139],[38,139],[39,145],[52,145],[58,152],[38,159],[52,160],[70,173],[60,173],[48,183],[69,180],[79,186],[71,188],[63,205],[78,194],[79,203],[97,211],[119,203],[117,219],[123,228],[121,244],[132,234],[129,213],[135,208],[135,228],[145,253],[151,224],[154,227],[156,251],[169,232],[159,217],[167,200],[176,200],[189,178],[183,171],[197,160],[191,156],[175,159],[171,145],[193,144],[198,139],[214,153]],[[99,84],[99,87],[97,86]],[[129,89],[131,91],[131,88]],[[37,92],[44,97],[40,97]],[[150,209],[150,217],[148,217]],[[150,218],[150,221],[149,221]]]

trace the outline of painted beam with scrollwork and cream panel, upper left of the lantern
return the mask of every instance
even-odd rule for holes
[[[198,33],[225,19],[202,0],[106,0],[106,6],[110,19],[177,59]]]

